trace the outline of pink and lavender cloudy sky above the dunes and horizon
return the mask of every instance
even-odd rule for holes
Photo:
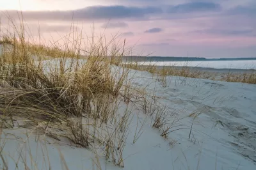
[[[17,11],[45,40],[67,35],[73,17],[85,35],[120,35],[134,55],[256,57],[255,0],[1,0],[1,27]]]

